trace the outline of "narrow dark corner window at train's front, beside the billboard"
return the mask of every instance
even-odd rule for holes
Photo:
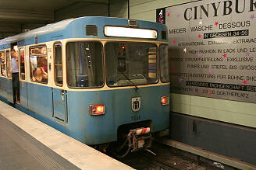
[[[169,82],[168,45],[160,46],[160,75],[162,82]]]

